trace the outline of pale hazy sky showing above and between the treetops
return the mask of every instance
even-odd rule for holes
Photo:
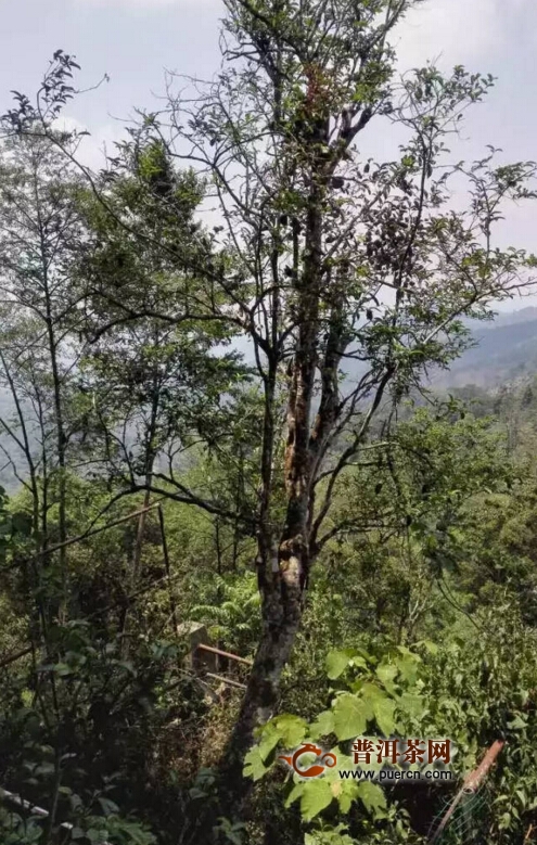
[[[108,75],[66,113],[91,131],[87,154],[95,164],[104,143],[113,151],[133,107],[158,107],[166,69],[202,79],[218,71],[221,0],[0,0],[0,10],[2,112],[11,89],[36,91],[57,48],[77,56],[80,88]],[[489,143],[504,151],[504,161],[537,158],[536,0],[424,0],[395,40],[401,68],[432,59],[443,68],[464,64],[498,77],[469,114],[455,161],[480,157]],[[384,130],[372,129],[365,144],[379,157],[391,152]],[[537,204],[511,207],[502,245],[537,252],[536,222]]]

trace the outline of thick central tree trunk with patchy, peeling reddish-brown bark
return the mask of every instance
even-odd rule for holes
[[[277,708],[281,676],[291,657],[301,625],[304,591],[311,563],[310,433],[322,274],[321,205],[322,190],[314,183],[307,214],[304,272],[295,285],[299,328],[295,356],[289,372],[287,441],[284,459],[287,499],[285,525],[280,537],[277,565],[273,565],[273,550],[267,548],[267,532],[263,530],[261,525],[258,572],[263,596],[263,633],[223,765],[225,791],[232,795],[239,805],[252,785],[252,782],[242,776],[244,755],[253,743],[255,728],[265,724]],[[272,453],[273,430],[268,434]],[[267,444],[267,440],[265,443]],[[264,492],[267,494],[266,488]]]

